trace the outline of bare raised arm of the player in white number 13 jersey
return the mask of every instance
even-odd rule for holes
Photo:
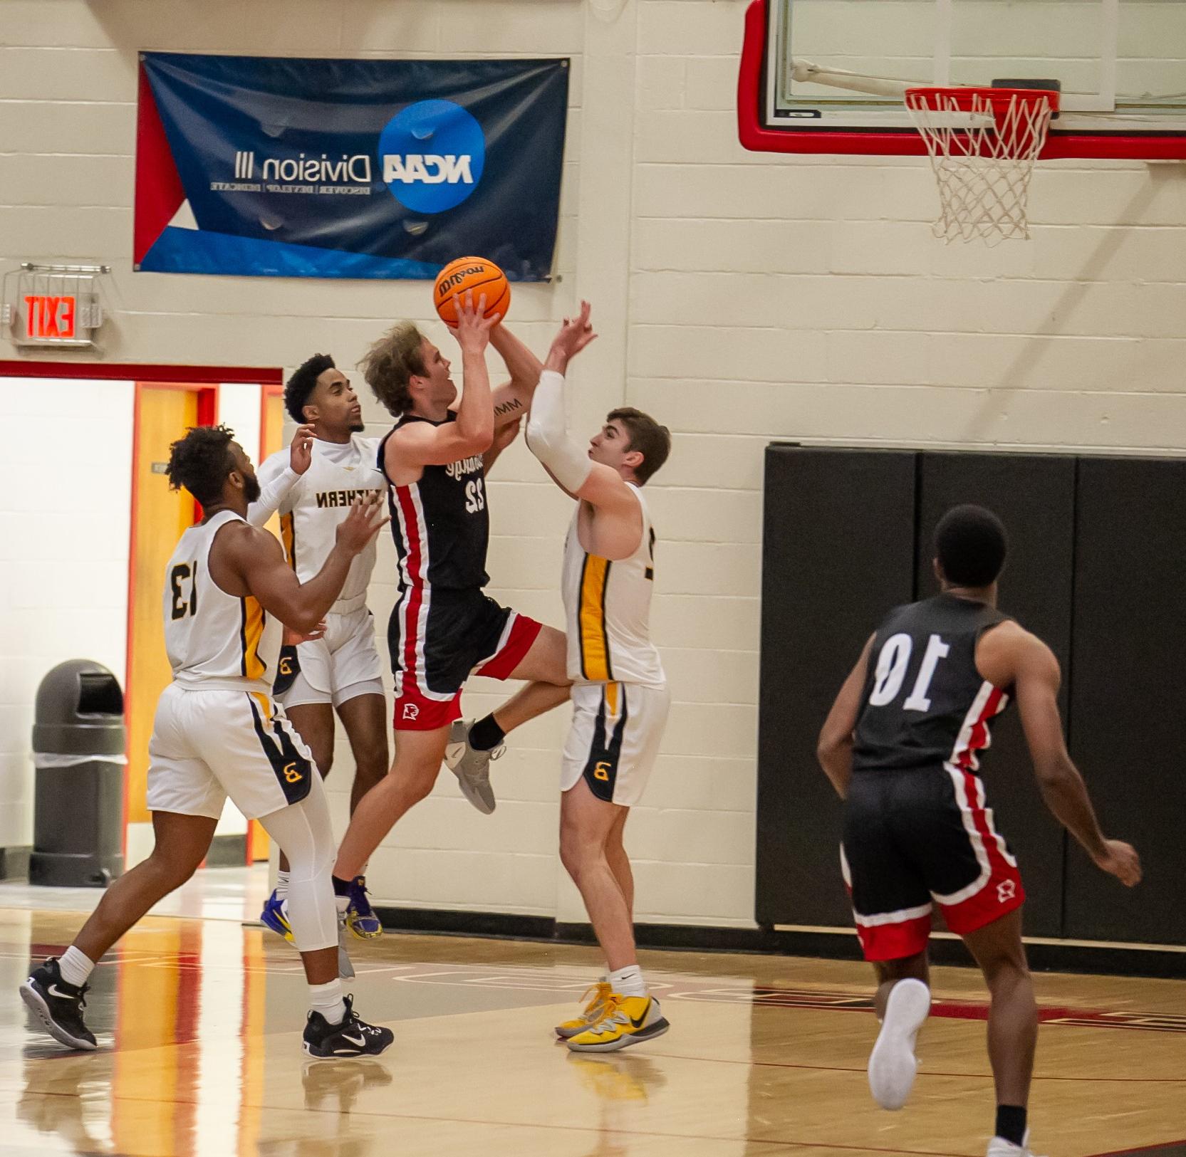
[[[300,634],[317,631],[346,581],[355,556],[387,524],[378,494],[358,498],[338,525],[333,550],[321,569],[301,583],[273,535],[247,523],[219,530],[210,552],[210,576],[230,595],[253,595],[268,614]]]

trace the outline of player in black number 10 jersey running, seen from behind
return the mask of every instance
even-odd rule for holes
[[[932,900],[976,958],[991,993],[988,1053],[996,1127],[988,1157],[1028,1155],[1026,1105],[1038,1011],[1021,944],[1025,891],[993,826],[977,774],[989,721],[1018,701],[1042,799],[1097,867],[1129,887],[1136,851],[1105,839],[1063,740],[1058,660],[996,609],[1005,528],[957,506],[935,532],[942,593],[892,611],[865,645],[820,736],[844,803],[841,862],[865,958],[878,974],[881,1031],[869,1087],[901,1108],[931,996]]]

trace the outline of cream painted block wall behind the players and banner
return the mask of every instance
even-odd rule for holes
[[[0,257],[110,262],[103,357],[349,366],[422,283],[133,275],[135,53],[573,57],[557,266],[516,286],[543,347],[579,296],[601,337],[575,378],[675,432],[650,487],[655,632],[675,705],[627,829],[643,919],[753,910],[761,450],[771,439],[1177,453],[1186,429],[1186,171],[1060,162],[1034,178],[1034,239],[944,248],[920,160],[752,155],[737,145],[745,0],[5,0]],[[442,345],[448,339],[432,328]],[[217,351],[212,356],[211,351]],[[0,343],[0,357],[12,352]],[[366,401],[377,432],[383,415]],[[553,622],[566,501],[515,447],[491,487],[493,594]],[[393,599],[380,555],[372,606]],[[499,688],[474,685],[467,710]],[[451,782],[375,856],[382,900],[559,914],[559,715],[497,765],[479,817]],[[344,820],[349,759],[331,798]]]

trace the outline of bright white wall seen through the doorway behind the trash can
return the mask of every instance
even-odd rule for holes
[[[0,377],[0,848],[33,840],[33,701],[94,659],[123,683],[130,382]]]

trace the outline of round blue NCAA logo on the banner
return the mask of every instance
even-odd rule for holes
[[[482,180],[486,139],[482,126],[452,101],[417,101],[398,111],[378,138],[383,184],[417,213],[461,204]]]

